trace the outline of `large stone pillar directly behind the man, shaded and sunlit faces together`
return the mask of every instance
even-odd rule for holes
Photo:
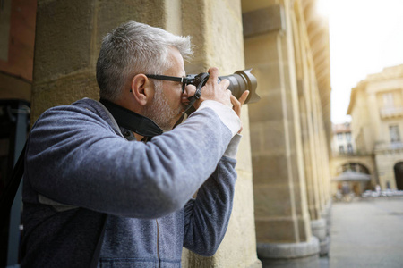
[[[84,96],[99,98],[95,65],[101,39],[125,21],[140,21],[193,36],[195,57],[188,73],[219,67],[220,74],[244,69],[239,1],[39,0],[32,94],[32,119],[54,105]],[[184,267],[260,267],[256,256],[248,107],[244,106],[238,151],[235,204],[227,236],[216,255],[184,253]]]

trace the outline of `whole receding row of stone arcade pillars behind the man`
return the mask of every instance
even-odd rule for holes
[[[31,1],[37,4],[31,121],[51,106],[99,98],[100,42],[120,23],[192,36],[187,73],[253,68],[262,99],[243,108],[227,235],[212,257],[184,251],[183,266],[319,267],[319,255],[329,250],[331,123],[329,27],[316,2]]]

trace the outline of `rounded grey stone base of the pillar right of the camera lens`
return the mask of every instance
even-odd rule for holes
[[[263,267],[319,267],[319,239],[312,237],[302,243],[258,243],[257,253]]]

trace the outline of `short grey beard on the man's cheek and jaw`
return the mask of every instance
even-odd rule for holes
[[[159,128],[164,130],[164,132],[172,130],[175,124],[172,120],[177,117],[177,114],[180,111],[174,111],[168,105],[167,98],[162,91],[161,81],[155,81],[154,88],[154,99],[152,100],[151,105],[144,109],[143,115],[158,124]]]

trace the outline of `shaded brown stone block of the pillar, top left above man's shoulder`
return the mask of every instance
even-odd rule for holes
[[[39,1],[34,80],[90,68],[93,1]],[[95,70],[95,69],[93,69]]]

